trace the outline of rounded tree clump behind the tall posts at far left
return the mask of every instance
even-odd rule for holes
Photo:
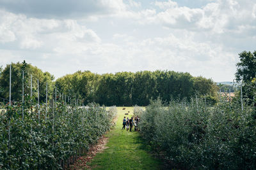
[[[17,64],[12,63],[12,100],[21,101],[22,98],[22,70],[24,71],[24,94],[30,94],[30,76],[33,76],[33,97],[37,99],[37,81],[39,80],[40,101],[45,99],[46,82],[48,90],[52,92],[54,86],[54,76],[48,72],[43,72],[38,67],[31,66],[25,61]],[[10,86],[10,64],[7,65],[0,74],[0,97],[9,99]],[[2,90],[1,90],[2,89]],[[44,90],[41,90],[44,89]]]

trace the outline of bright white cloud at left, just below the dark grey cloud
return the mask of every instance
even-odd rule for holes
[[[0,10],[0,42],[15,41],[16,50],[37,48],[59,49],[56,45],[66,41],[84,43],[100,43],[101,39],[92,29],[77,24],[76,20],[54,20],[27,18]],[[67,45],[70,46],[70,45]]]

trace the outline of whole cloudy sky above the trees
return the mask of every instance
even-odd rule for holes
[[[170,70],[233,81],[256,45],[256,0],[0,0],[0,66],[60,78]]]

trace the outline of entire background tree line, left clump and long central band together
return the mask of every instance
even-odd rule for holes
[[[165,102],[171,99],[190,99],[198,96],[214,97],[218,87],[211,79],[194,77],[189,73],[175,71],[138,71],[97,74],[90,71],[77,71],[54,81],[54,76],[25,61],[12,63],[12,99],[21,100],[22,71],[24,71],[25,94],[30,94],[31,74],[33,96],[37,97],[37,79],[39,80],[40,101],[45,100],[46,83],[49,96],[57,87],[58,94],[72,99],[80,99],[84,104],[99,103],[105,106],[147,106],[150,99],[161,98]],[[0,71],[0,97],[8,99],[10,65]],[[63,95],[64,96],[64,95]]]

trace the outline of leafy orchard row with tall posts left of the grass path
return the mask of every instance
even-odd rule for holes
[[[0,117],[0,169],[61,169],[60,161],[87,150],[109,130],[115,114],[115,108],[106,111],[99,104],[77,107],[60,101],[47,108],[42,104],[39,120],[36,104],[25,101],[2,106],[6,112]]]

